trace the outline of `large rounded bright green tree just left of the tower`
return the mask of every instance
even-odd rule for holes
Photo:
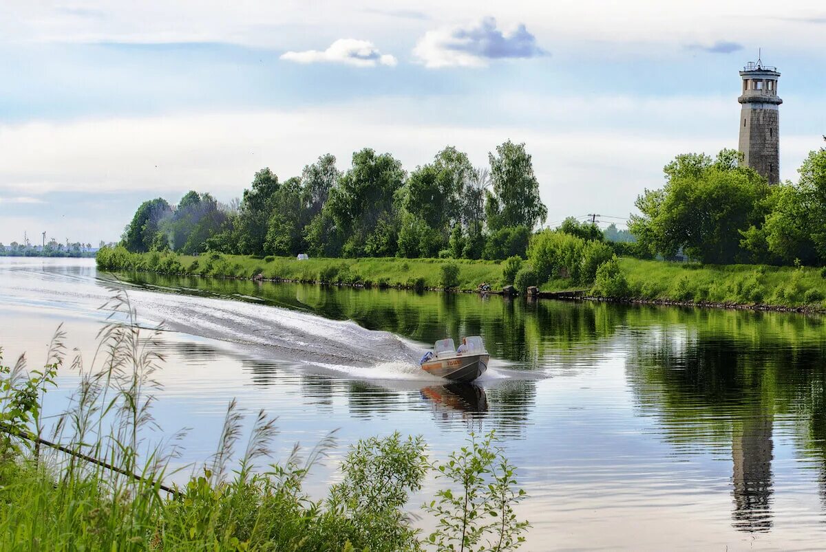
[[[629,230],[640,243],[664,257],[682,249],[706,263],[744,261],[743,232],[765,215],[770,193],[766,180],[732,162],[738,155],[723,150],[712,161],[707,155],[678,155],[664,172],[662,190],[646,190],[636,204]]]

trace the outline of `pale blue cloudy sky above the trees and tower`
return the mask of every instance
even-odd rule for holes
[[[548,224],[621,226],[676,154],[737,147],[758,48],[796,180],[826,133],[824,36],[820,0],[6,0],[0,242],[114,241],[141,201],[230,201],[328,152],[484,166],[507,139]]]

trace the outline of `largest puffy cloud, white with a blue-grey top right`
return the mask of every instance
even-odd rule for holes
[[[533,58],[544,52],[525,25],[503,32],[496,27],[496,19],[483,17],[467,25],[428,31],[416,44],[413,54],[425,66],[438,68],[483,67],[491,59]]]

